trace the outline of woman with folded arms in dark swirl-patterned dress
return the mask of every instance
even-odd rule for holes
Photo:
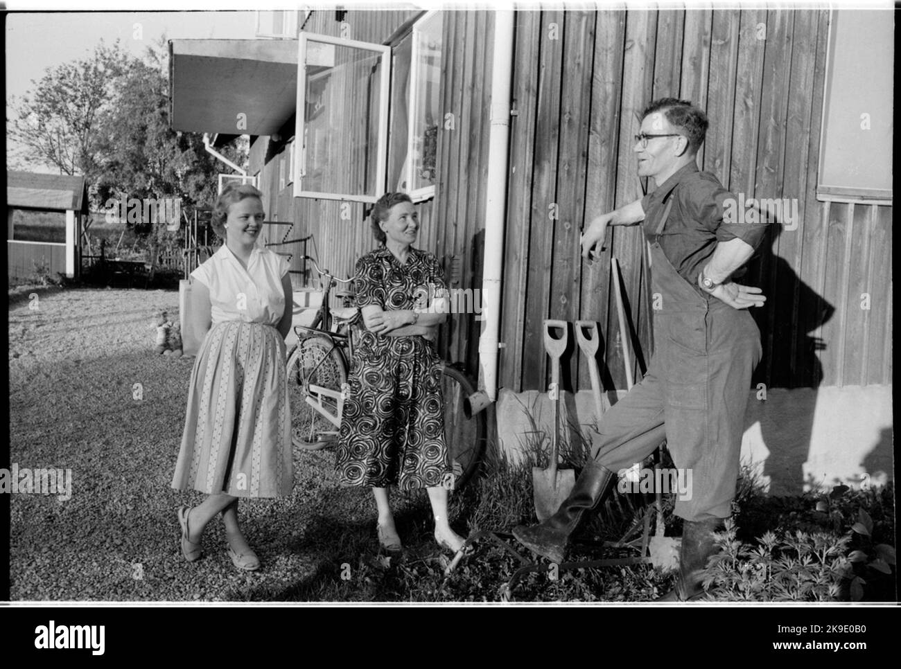
[[[387,486],[425,488],[435,540],[463,543],[448,522],[451,458],[444,443],[441,359],[432,339],[447,317],[438,259],[414,249],[419,220],[409,195],[383,195],[372,227],[384,246],[359,258],[354,288],[366,329],[348,379],[335,467],[342,484],[368,485],[378,507],[378,540],[400,550]]]

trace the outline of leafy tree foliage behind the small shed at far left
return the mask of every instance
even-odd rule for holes
[[[169,126],[165,36],[142,59],[101,43],[94,54],[51,68],[35,90],[12,105],[18,118],[11,135],[24,158],[82,174],[95,210],[121,200],[179,199],[183,222],[216,196],[222,165],[203,136]],[[236,164],[247,159],[247,141],[222,149]],[[142,212],[143,213],[143,212]],[[140,216],[127,224],[145,240],[153,269],[161,246],[174,245],[171,221]]]

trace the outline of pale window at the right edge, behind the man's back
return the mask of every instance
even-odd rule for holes
[[[816,197],[891,203],[894,15],[833,10]]]

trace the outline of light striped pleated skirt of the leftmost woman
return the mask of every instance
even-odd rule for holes
[[[191,372],[176,490],[279,497],[291,492],[285,342],[263,323],[225,321],[206,333]]]

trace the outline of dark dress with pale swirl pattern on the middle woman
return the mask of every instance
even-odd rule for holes
[[[387,249],[359,258],[357,305],[422,309],[445,290],[441,265],[410,249],[405,264]],[[335,468],[342,484],[401,490],[440,486],[451,474],[444,443],[441,359],[422,336],[363,331],[351,362]]]

